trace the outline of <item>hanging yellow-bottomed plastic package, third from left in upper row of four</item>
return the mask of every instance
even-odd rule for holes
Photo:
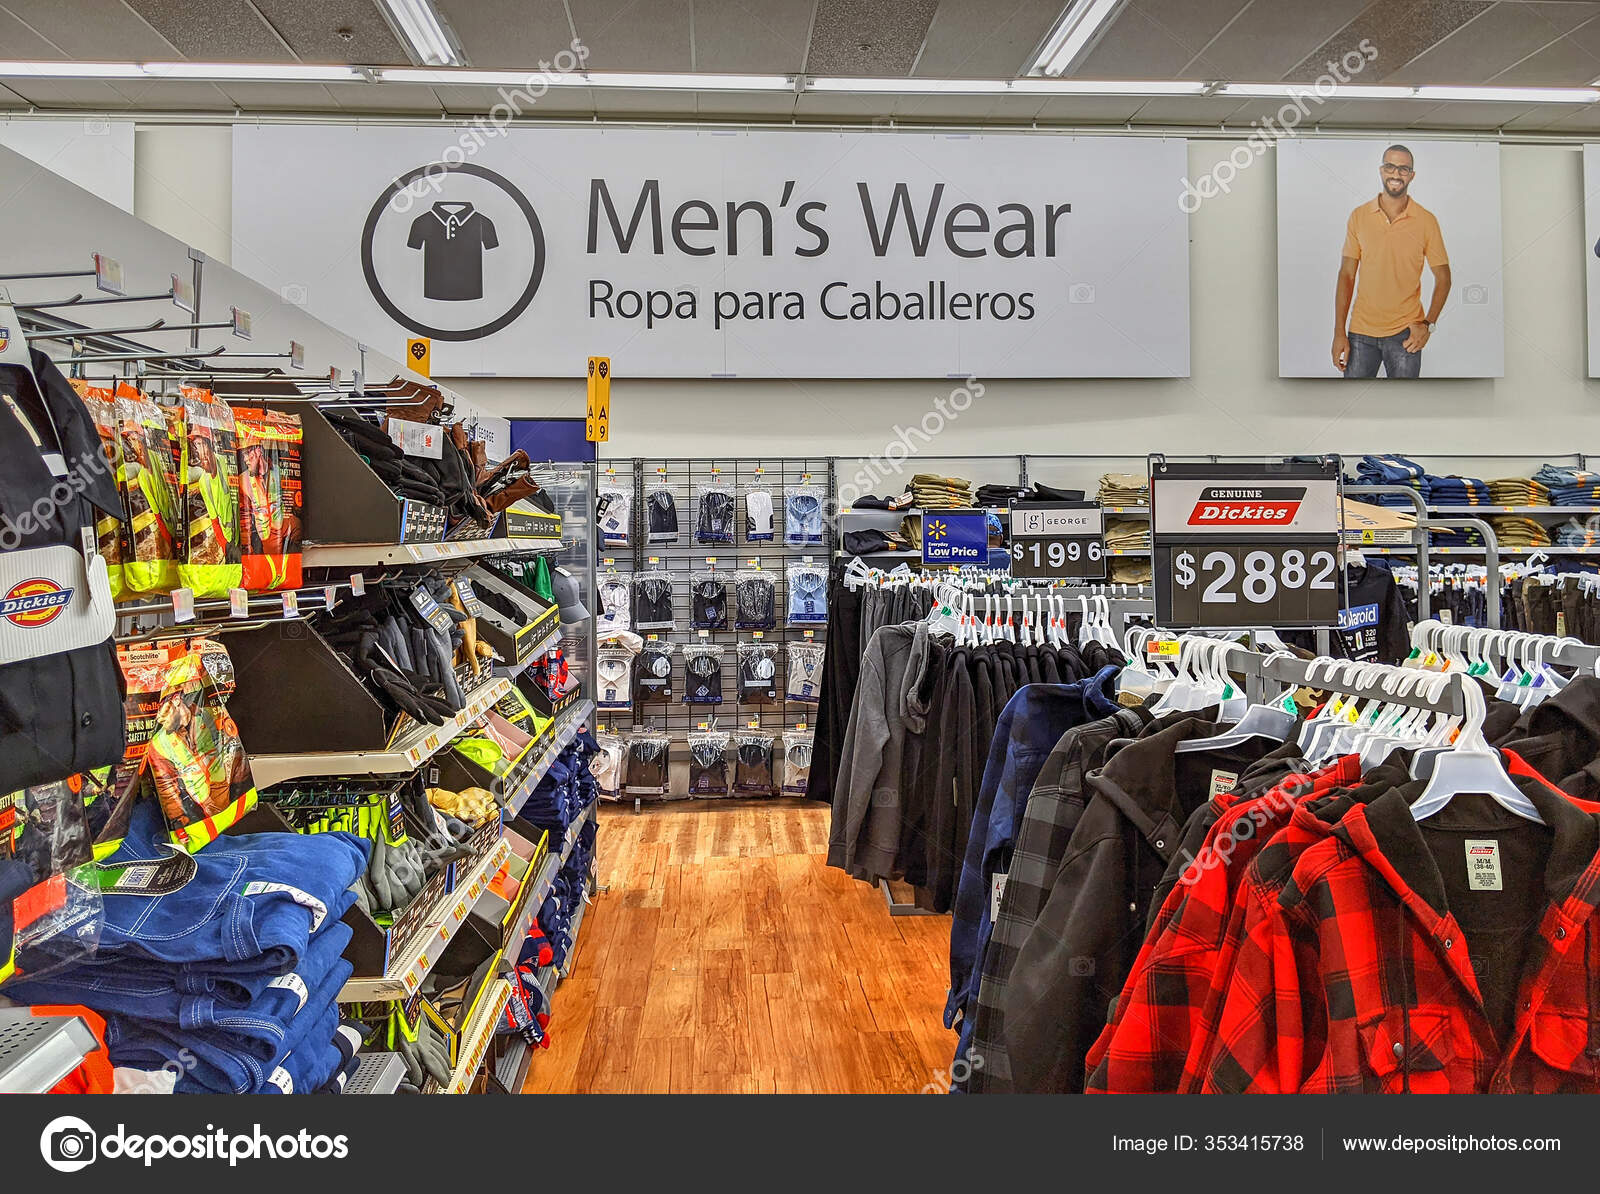
[[[238,544],[238,434],[234,411],[198,389],[184,389],[178,583],[195,597],[226,597],[243,583]]]

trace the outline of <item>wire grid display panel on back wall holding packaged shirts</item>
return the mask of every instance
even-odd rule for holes
[[[699,514],[699,487],[725,485],[733,490],[734,517],[733,543],[696,543],[694,531]],[[790,563],[810,560],[822,571],[832,562],[837,535],[827,517],[822,519],[822,543],[790,544],[786,541],[784,490],[790,485],[814,485],[822,496],[824,514],[829,495],[834,491],[832,461],[827,456],[722,456],[704,459],[685,458],[632,458],[602,459],[598,463],[597,490],[621,488],[632,496],[629,509],[627,546],[600,546],[597,579],[603,583],[611,573],[632,581],[640,570],[664,568],[672,575],[672,631],[638,631],[642,637],[656,634],[672,642],[674,699],[667,704],[637,704],[632,709],[602,709],[595,714],[603,730],[624,738],[634,728],[666,730],[672,738],[670,789],[667,799],[688,795],[688,735],[701,723],[707,727],[715,719],[717,730],[738,733],[757,728],[776,739],[784,730],[816,722],[816,706],[789,701],[790,643],[827,642],[827,626],[789,626],[789,573]],[[766,487],[773,491],[773,538],[758,543],[746,539],[744,490]],[[650,519],[645,509],[650,493],[664,488],[672,495],[678,512],[678,536],[672,543],[648,543]],[[656,563],[651,563],[656,560]],[[715,563],[710,563],[715,560]],[[773,610],[776,626],[771,631],[741,631],[733,616],[733,575],[755,567],[773,576]],[[730,613],[728,627],[720,631],[693,629],[691,576],[701,571],[726,573]],[[595,610],[598,615],[600,610]],[[741,699],[738,645],[758,642],[779,647],[778,651],[778,701],[758,704]],[[715,643],[723,648],[722,704],[685,704],[683,647],[691,643]],[[781,743],[774,741],[774,779],[782,783]]]

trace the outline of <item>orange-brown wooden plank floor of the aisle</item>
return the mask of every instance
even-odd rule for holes
[[[950,1068],[950,919],[824,866],[810,802],[602,805],[610,891],[523,1093],[915,1093]]]

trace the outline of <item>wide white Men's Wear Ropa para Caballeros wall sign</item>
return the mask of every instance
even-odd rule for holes
[[[1157,138],[240,125],[234,264],[430,336],[435,376],[1187,376],[1186,168]]]

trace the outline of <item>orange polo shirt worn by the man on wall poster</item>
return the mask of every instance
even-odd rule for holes
[[[1414,198],[1394,221],[1371,198],[1350,213],[1344,256],[1355,258],[1355,304],[1350,331],[1392,336],[1422,320],[1422,262],[1448,266],[1438,219]]]

